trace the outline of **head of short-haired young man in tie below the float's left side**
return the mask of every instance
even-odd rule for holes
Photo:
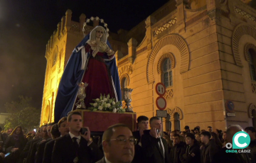
[[[68,127],[70,133],[79,133],[82,128],[82,115],[79,111],[71,111],[68,114]]]

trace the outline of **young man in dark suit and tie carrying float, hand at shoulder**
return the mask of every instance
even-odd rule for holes
[[[53,163],[70,162],[97,162],[103,157],[100,149],[92,142],[89,128],[84,135],[80,133],[82,128],[82,116],[78,111],[68,114],[68,126],[70,133],[55,140],[53,147]]]

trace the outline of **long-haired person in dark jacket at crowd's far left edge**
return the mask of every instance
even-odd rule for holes
[[[23,136],[21,126],[17,126],[12,133],[7,137],[4,144],[5,152],[11,152],[9,157],[6,157],[5,162],[18,162],[20,154],[26,145],[26,138]]]

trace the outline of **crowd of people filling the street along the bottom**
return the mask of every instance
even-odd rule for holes
[[[24,134],[21,126],[1,132],[0,163],[252,163],[256,159],[253,127],[245,128],[251,140],[249,153],[226,152],[226,143],[243,130],[239,125],[226,131],[210,126],[190,130],[186,125],[183,131],[162,132],[160,118],[139,116],[137,127],[132,132],[127,125],[115,124],[103,135],[91,135],[90,128],[82,128],[80,112],[72,111],[36,133]]]

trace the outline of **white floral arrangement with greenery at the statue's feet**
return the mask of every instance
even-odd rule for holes
[[[90,103],[92,107],[90,107],[91,111],[110,111],[113,113],[124,113],[125,110],[122,108],[122,101],[115,102],[115,99],[110,99],[110,94],[102,96],[100,94],[100,99],[93,99],[95,103]]]

